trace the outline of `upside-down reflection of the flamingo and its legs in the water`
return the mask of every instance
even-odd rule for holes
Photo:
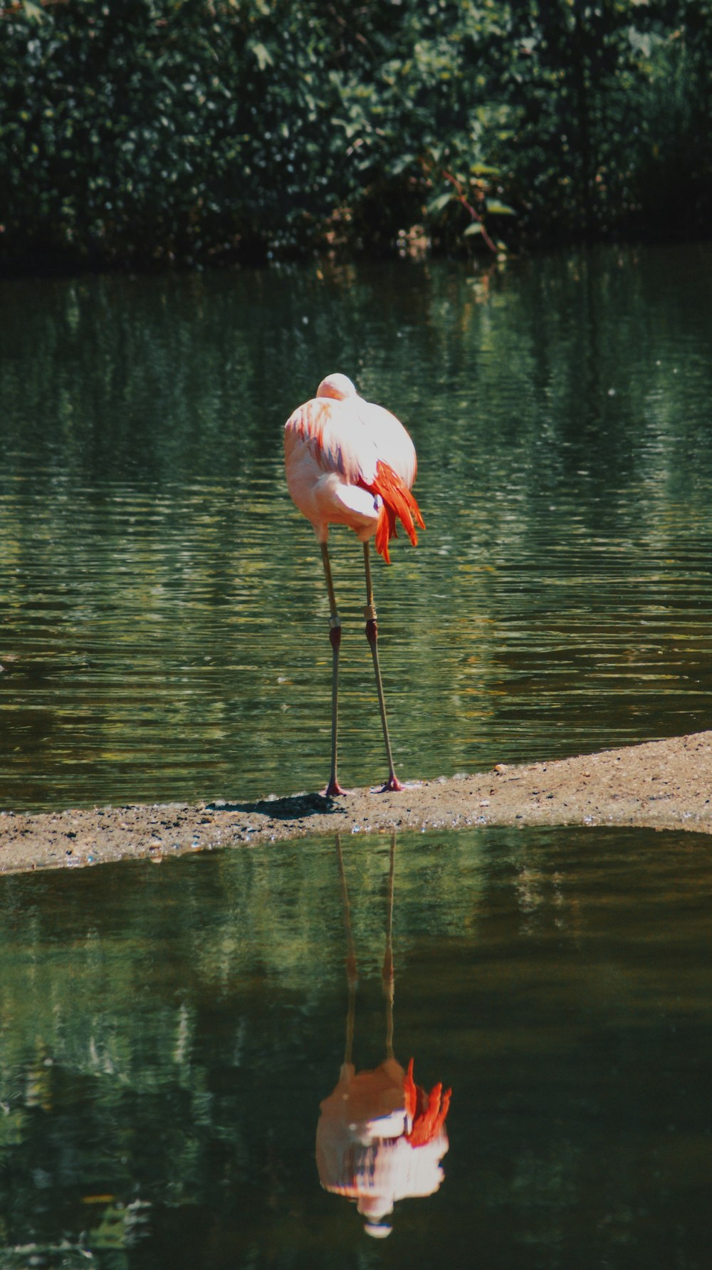
[[[357,1072],[352,1060],[355,1019],[357,964],[341,846],[336,853],[344,899],[349,984],[346,1048],[339,1082],[321,1102],[316,1130],[316,1163],[321,1185],[357,1201],[366,1232],[376,1238],[391,1233],[385,1218],[400,1199],[433,1195],[444,1173],[440,1160],[448,1149],[445,1116],[451,1090],[435,1085],[430,1093],[415,1085],[414,1060],[407,1071],[393,1054],[393,876],[395,834],[391,839],[388,917],[383,992],[386,996],[386,1058],[373,1071]]]

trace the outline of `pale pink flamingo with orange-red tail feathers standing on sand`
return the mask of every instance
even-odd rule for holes
[[[348,525],[363,542],[366,569],[366,638],[373,655],[376,691],[388,759],[386,790],[402,790],[388,739],[386,701],[378,668],[378,627],[373,605],[369,538],[391,563],[388,542],[396,535],[396,517],[415,546],[415,525],[425,528],[420,508],[410,493],[416,472],[415,446],[395,414],[360,398],[345,375],[327,375],[316,396],[305,401],[284,424],[284,470],[289,494],[311,521],[319,544],[329,593],[331,640],[331,775],[326,795],[345,794],[336,776],[339,720],[339,648],[341,618],[336,608],[329,561],[330,525]]]

